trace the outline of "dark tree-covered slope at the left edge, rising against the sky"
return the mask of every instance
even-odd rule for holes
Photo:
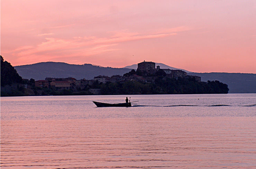
[[[13,83],[22,83],[22,78],[12,65],[4,61],[1,56],[1,86],[11,85]]]

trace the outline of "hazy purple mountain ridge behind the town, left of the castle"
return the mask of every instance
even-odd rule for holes
[[[102,67],[92,64],[67,64],[63,62],[40,62],[30,65],[14,66],[22,78],[44,80],[46,77],[74,77],[80,79],[93,79],[98,75],[123,75],[131,69]]]

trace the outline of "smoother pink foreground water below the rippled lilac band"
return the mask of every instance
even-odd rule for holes
[[[255,117],[1,122],[1,168],[255,168]]]

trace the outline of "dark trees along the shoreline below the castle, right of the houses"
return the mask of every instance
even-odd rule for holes
[[[155,83],[127,81],[124,84],[101,84],[103,95],[111,94],[225,94],[228,85],[219,81],[198,82],[195,78],[163,79],[159,76]]]

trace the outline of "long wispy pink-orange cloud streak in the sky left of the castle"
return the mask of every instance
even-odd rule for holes
[[[58,38],[45,38],[46,42],[42,42],[36,46],[22,46],[13,52],[18,56],[34,55],[36,53],[56,53],[61,50],[72,50],[78,53],[99,54],[103,52],[113,51],[109,47],[116,46],[122,42],[137,41],[143,39],[162,38],[166,36],[176,35],[176,33],[160,33],[160,34],[140,34],[127,31],[109,32],[109,38],[101,38],[97,36],[74,37],[71,40]],[[53,33],[39,34],[38,36],[53,35]],[[80,51],[80,52],[79,52]],[[75,53],[74,53],[75,55]]]

